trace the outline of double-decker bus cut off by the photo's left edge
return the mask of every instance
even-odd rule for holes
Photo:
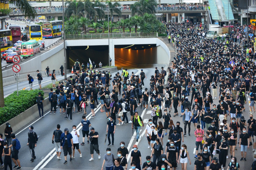
[[[11,30],[0,30],[0,49],[3,54],[5,50],[12,47],[12,33]]]

